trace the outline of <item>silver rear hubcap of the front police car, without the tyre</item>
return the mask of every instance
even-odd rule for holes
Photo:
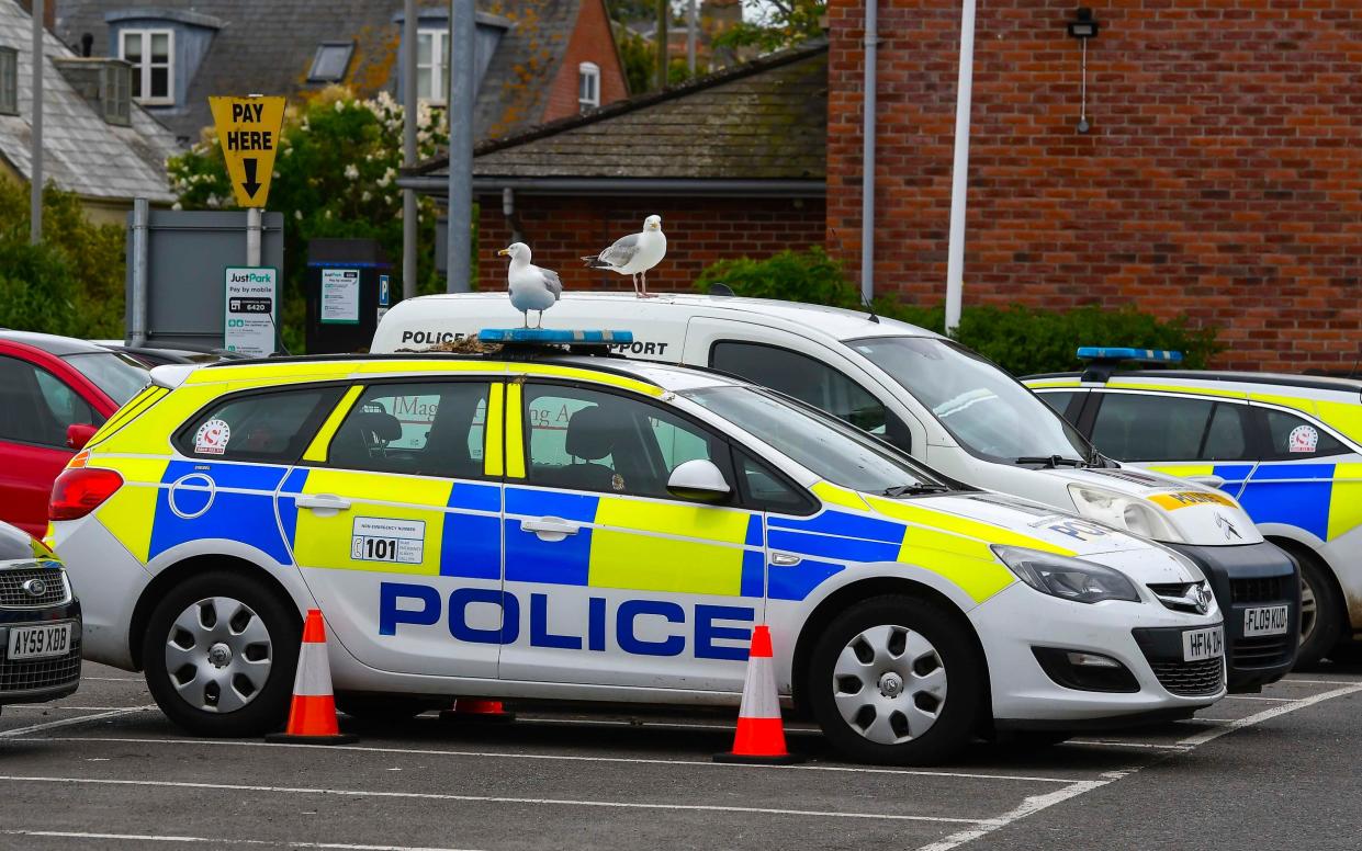
[[[170,685],[204,712],[236,712],[249,704],[270,678],[272,662],[264,621],[230,596],[192,603],[166,636]]]

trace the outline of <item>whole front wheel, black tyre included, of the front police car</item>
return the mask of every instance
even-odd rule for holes
[[[885,595],[821,630],[809,708],[839,752],[861,762],[932,765],[968,743],[985,709],[975,637],[941,606]]]

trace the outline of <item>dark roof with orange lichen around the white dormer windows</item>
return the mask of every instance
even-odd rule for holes
[[[79,45],[94,35],[94,53],[108,56],[105,15],[138,7],[136,0],[61,0],[57,33]],[[478,91],[477,138],[523,129],[542,120],[548,83],[563,64],[568,37],[582,0],[479,0],[479,19],[496,18],[511,27],[492,54]],[[206,12],[225,23],[212,37],[185,103],[157,110],[166,125],[196,140],[212,123],[207,98],[219,94],[283,94],[321,89],[308,83],[316,48],[323,41],[354,39],[355,50],[343,80],[358,94],[399,94],[398,48],[402,27],[395,18],[402,0],[154,0],[148,16],[166,10]],[[421,14],[447,12],[449,4],[418,4]]]

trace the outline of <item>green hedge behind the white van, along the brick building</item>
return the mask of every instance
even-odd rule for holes
[[[720,260],[700,274],[696,289],[708,291],[714,283],[725,283],[738,295],[865,309],[858,287],[819,246],[786,251],[765,260]],[[937,332],[945,328],[941,305],[929,308],[876,297],[874,310]],[[1064,312],[1024,305],[966,306],[953,336],[1017,376],[1079,369],[1083,365],[1075,355],[1079,346],[1177,349],[1189,369],[1204,368],[1223,349],[1215,328],[1192,328],[1185,316],[1159,320],[1133,305],[1114,310],[1088,305]]]

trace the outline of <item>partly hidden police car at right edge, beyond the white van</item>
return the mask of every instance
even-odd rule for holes
[[[1083,373],[1024,381],[1113,457],[1215,485],[1242,502],[1263,535],[1301,562],[1299,663],[1357,654],[1362,380],[1128,369],[1181,359],[1135,349],[1080,349],[1079,357],[1091,359]],[[1233,614],[1257,652],[1280,645],[1284,591],[1263,581],[1235,591]]]

